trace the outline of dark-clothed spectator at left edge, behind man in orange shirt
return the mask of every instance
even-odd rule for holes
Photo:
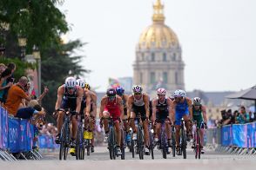
[[[4,102],[4,98],[3,98],[4,89],[10,88],[10,86],[12,85],[12,82],[9,82],[7,84],[7,79],[10,77],[10,75],[11,75],[10,69],[5,69],[3,73],[0,75],[0,105],[2,105]]]

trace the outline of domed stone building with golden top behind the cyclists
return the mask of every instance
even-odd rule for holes
[[[141,84],[147,93],[157,88],[168,92],[184,89],[184,67],[178,37],[165,25],[164,5],[153,5],[152,25],[139,37],[133,64],[133,83]]]

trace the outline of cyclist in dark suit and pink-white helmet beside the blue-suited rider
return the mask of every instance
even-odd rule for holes
[[[158,136],[161,130],[161,125],[165,123],[168,146],[171,147],[172,143],[170,122],[172,122],[172,100],[169,97],[165,96],[165,88],[158,88],[157,94],[158,98],[152,101],[152,116],[154,122],[156,123],[156,133],[154,137],[154,142],[158,143]]]

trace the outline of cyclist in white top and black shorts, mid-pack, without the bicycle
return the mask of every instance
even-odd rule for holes
[[[128,98],[128,119],[130,118],[130,124],[133,131],[132,140],[137,140],[137,129],[135,127],[134,118],[141,115],[143,122],[143,129],[145,134],[145,154],[149,155],[149,131],[148,131],[148,119],[150,116],[149,109],[149,95],[142,93],[141,86],[135,85],[132,88],[132,95]]]

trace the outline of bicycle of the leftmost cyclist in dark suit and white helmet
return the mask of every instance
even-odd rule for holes
[[[64,124],[61,127],[59,160],[66,160],[71,145],[71,112],[65,109],[57,109],[64,111]]]

